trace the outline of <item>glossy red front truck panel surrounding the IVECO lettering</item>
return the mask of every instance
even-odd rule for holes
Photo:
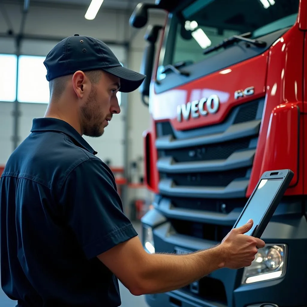
[[[176,130],[193,129],[222,122],[231,108],[248,100],[265,95],[266,67],[269,52],[250,60],[235,64],[227,69],[184,84],[173,90],[152,95],[150,112],[154,120],[170,119]],[[247,70],[252,73],[247,73]],[[234,93],[247,87],[255,88],[254,95],[235,99]],[[177,106],[189,101],[216,94],[220,108],[215,114],[177,121]],[[167,107],[165,107],[167,102]]]

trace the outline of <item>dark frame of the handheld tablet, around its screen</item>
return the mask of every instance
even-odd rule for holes
[[[247,200],[247,203],[245,204],[243,210],[241,211],[241,213],[240,213],[238,219],[236,220],[233,228],[236,228],[236,226],[237,226],[239,220],[241,219],[244,211],[246,210],[248,204],[250,203],[252,197],[254,196],[260,182],[263,179],[268,179],[268,180],[270,180],[270,179],[282,179],[278,190],[275,192],[275,194],[274,194],[269,206],[267,207],[266,211],[264,212],[259,224],[256,225],[254,231],[251,234],[251,236],[253,236],[253,237],[260,238],[262,236],[264,230],[266,229],[266,226],[270,222],[270,219],[273,216],[276,208],[278,207],[279,202],[282,200],[283,195],[285,194],[287,188],[289,187],[293,176],[294,176],[294,173],[290,169],[277,169],[277,170],[271,170],[271,171],[264,172],[261,175],[261,177],[259,178],[259,181],[258,181],[254,191],[252,192],[251,196]],[[251,216],[251,219],[253,219],[252,216]],[[254,225],[253,225],[253,227],[254,227]]]

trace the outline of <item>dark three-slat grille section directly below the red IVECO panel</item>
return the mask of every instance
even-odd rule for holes
[[[157,168],[160,194],[176,196],[174,188],[189,188],[186,197],[218,193],[243,197],[247,189],[257,146],[264,99],[234,107],[226,119],[216,125],[176,131],[170,122],[156,124]],[[240,181],[238,186],[234,182]],[[221,191],[217,187],[224,187]],[[231,192],[231,188],[235,188]],[[227,189],[227,190],[226,190]],[[176,191],[177,191],[176,190]],[[223,192],[223,193],[222,193]],[[189,193],[191,195],[189,195]],[[213,193],[213,194],[212,194]],[[187,208],[189,204],[187,203]]]

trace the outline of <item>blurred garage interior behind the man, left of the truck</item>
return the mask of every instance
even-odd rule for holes
[[[129,26],[138,1],[104,0],[92,20],[85,18],[90,3],[90,0],[0,1],[2,170],[12,151],[29,134],[32,119],[44,116],[49,85],[43,61],[60,40],[74,34],[95,37],[105,42],[125,67],[139,71],[146,28],[137,30]],[[164,18],[161,11],[150,14],[154,24],[162,25]],[[125,213],[141,234],[139,219],[152,199],[143,182],[142,133],[148,128],[150,117],[138,91],[118,92],[118,99],[121,113],[113,117],[111,129],[106,129],[103,138],[85,139],[112,169]],[[145,306],[143,297],[132,296],[122,285],[120,290],[122,306]],[[0,290],[0,306],[15,305]]]

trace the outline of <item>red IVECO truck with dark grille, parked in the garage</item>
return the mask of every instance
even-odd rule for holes
[[[150,10],[167,17],[148,26],[141,68],[155,194],[142,218],[146,251],[220,243],[264,171],[295,175],[250,267],[146,295],[148,305],[307,306],[307,1],[161,0],[140,3],[130,25],[144,27]]]

